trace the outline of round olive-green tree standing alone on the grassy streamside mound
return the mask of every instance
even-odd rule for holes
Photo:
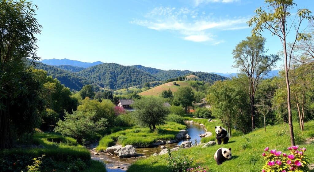
[[[136,109],[133,113],[142,126],[149,126],[149,129],[156,129],[156,125],[164,124],[169,108],[164,106],[164,101],[161,98],[142,98],[135,100],[132,105]]]

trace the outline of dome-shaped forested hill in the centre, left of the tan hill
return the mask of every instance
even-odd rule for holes
[[[142,85],[158,79],[149,73],[136,68],[116,63],[103,63],[78,72],[78,75],[87,78],[91,83],[108,89],[122,89]]]

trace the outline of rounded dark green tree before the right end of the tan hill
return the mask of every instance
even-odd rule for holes
[[[194,92],[190,87],[182,87],[178,89],[174,95],[174,98],[184,107],[186,114],[188,113],[188,107],[192,106],[193,102],[195,101]]]

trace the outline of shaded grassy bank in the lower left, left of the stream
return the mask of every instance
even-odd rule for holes
[[[31,165],[35,157],[43,157],[42,171],[84,171],[93,167],[105,171],[102,163],[91,161],[89,150],[70,137],[55,133],[37,133],[31,139],[33,148],[5,149],[0,152],[0,171],[21,171]]]

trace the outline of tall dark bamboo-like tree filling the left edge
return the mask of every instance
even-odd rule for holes
[[[0,1],[0,149],[31,134],[40,121],[41,86],[25,63],[39,60],[36,9],[31,2]]]

